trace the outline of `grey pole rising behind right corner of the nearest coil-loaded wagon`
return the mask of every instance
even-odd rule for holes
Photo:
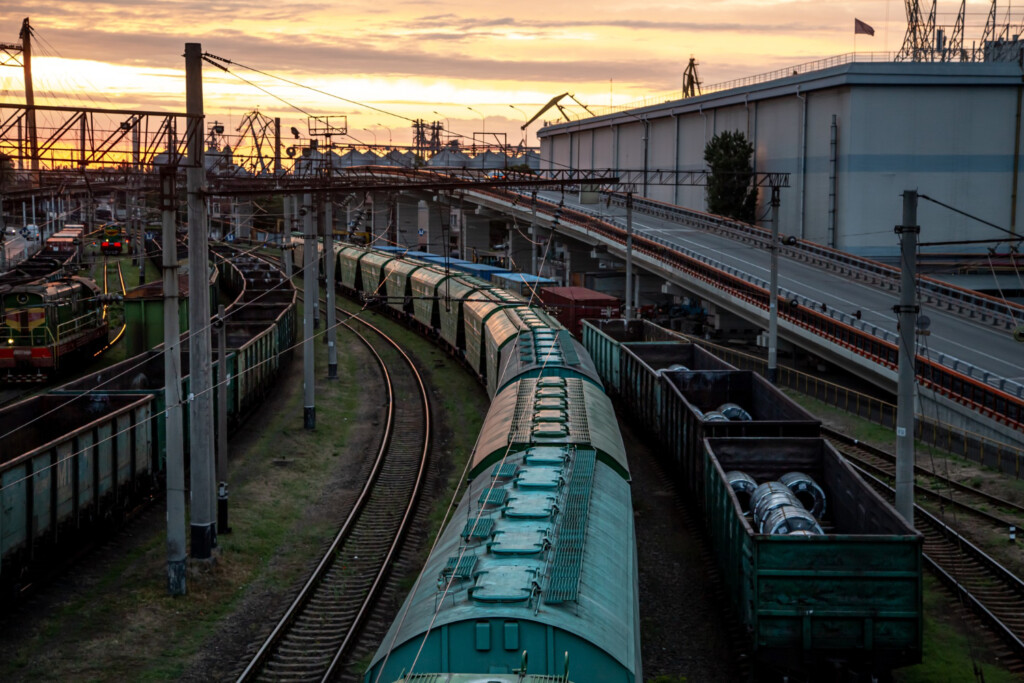
[[[903,191],[903,224],[900,236],[899,375],[896,391],[896,511],[913,526],[913,417],[916,373],[914,333],[918,328],[918,190]]]

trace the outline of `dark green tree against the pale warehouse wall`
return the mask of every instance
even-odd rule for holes
[[[705,145],[708,176],[708,211],[753,223],[758,205],[757,187],[751,186],[754,145],[738,130],[725,131]]]

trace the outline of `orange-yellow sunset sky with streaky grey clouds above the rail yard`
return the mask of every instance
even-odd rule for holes
[[[951,25],[943,12],[958,4],[939,6],[939,24]],[[968,42],[980,36],[988,6],[968,3]],[[415,118],[518,142],[523,117],[561,92],[588,105],[621,104],[678,89],[691,55],[713,84],[851,52],[854,17],[876,30],[856,37],[858,51],[899,49],[906,27],[900,0],[4,0],[0,43],[17,42],[26,16],[37,36],[37,103],[183,112],[183,45],[199,42],[383,111],[232,70],[276,99],[207,66],[206,112],[228,132],[257,106],[283,117],[286,130],[304,130],[305,115],[291,104],[345,115],[351,138],[381,144],[389,136],[409,143]],[[0,98],[23,101],[20,69],[0,68]],[[529,143],[540,126],[529,127]]]

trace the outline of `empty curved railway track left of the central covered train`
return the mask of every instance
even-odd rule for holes
[[[423,381],[408,355],[383,332],[349,315],[345,327],[377,358],[388,419],[371,474],[328,551],[239,681],[329,680],[384,587],[411,525],[426,476],[430,413]],[[374,344],[355,330],[362,326]]]

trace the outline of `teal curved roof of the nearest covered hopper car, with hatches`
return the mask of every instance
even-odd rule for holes
[[[470,483],[427,559],[419,583],[382,640],[372,668],[392,649],[407,644],[418,648],[431,632],[439,634],[458,624],[483,618],[505,618],[571,633],[627,671],[640,670],[636,544],[629,483],[611,468],[595,462],[592,451],[589,455],[575,452],[563,466],[549,454],[539,458],[539,466],[531,466],[532,460],[528,451],[510,454],[501,468]],[[593,468],[592,475],[588,467]],[[560,539],[567,542],[572,536],[561,529],[573,517],[565,510],[550,518],[513,516],[516,502],[529,506],[534,502],[528,496],[545,498],[541,492],[524,490],[528,478],[545,474],[567,478],[568,483],[559,492],[562,498],[570,486],[581,493],[579,485],[586,477],[585,541],[578,552],[559,553]],[[549,498],[557,496],[551,492]],[[505,502],[496,504],[500,499]],[[571,505],[567,500],[559,501]],[[543,551],[509,551],[509,546],[528,548],[534,536],[543,542]],[[453,574],[456,580],[446,586]],[[567,590],[564,582],[556,580],[566,575],[572,584]],[[578,663],[586,658],[580,651],[569,654]],[[418,670],[426,673],[431,667],[421,663]]]

